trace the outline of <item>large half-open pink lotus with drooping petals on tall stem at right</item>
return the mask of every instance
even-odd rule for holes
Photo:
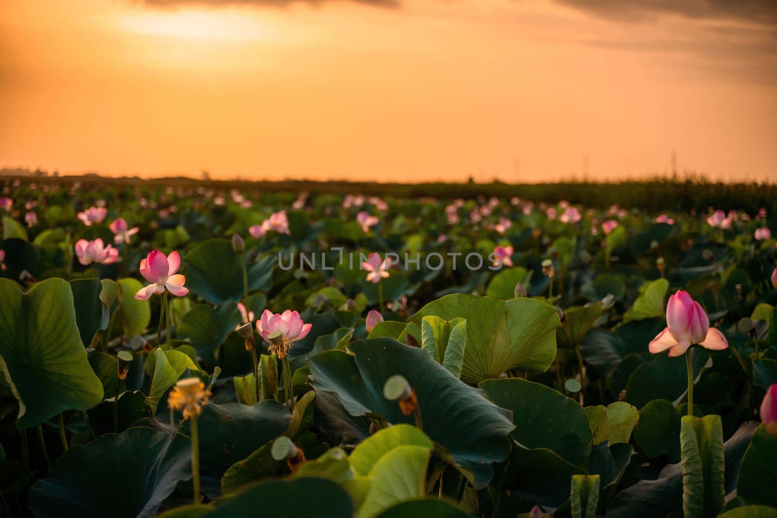
[[[681,356],[693,344],[707,349],[726,349],[728,342],[718,329],[709,327],[709,318],[688,292],[680,290],[669,297],[667,328],[650,342],[651,353],[669,349],[669,356]]]

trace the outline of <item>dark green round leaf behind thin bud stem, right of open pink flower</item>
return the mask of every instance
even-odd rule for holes
[[[209,304],[239,301],[244,296],[242,260],[225,239],[202,242],[183,258],[186,287]],[[274,261],[267,257],[247,265],[249,291],[270,288]]]

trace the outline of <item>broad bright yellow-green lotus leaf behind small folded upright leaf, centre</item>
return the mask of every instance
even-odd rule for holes
[[[548,370],[556,357],[559,315],[542,301],[447,295],[430,302],[410,319],[419,343],[421,320],[428,315],[444,320],[466,319],[467,346],[462,366],[465,383],[478,384],[511,369]]]

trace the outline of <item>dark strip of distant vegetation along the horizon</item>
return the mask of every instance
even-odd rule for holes
[[[89,174],[85,176],[37,177],[6,176],[35,183],[70,184],[79,181],[83,186],[207,186],[216,189],[245,189],[248,191],[291,191],[310,193],[364,194],[396,198],[433,197],[438,199],[518,196],[523,200],[556,203],[568,200],[587,207],[639,207],[652,212],[663,210],[702,210],[709,207],[723,210],[744,210],[750,214],[765,207],[777,211],[777,184],[774,183],[717,183],[704,178],[629,180],[618,183],[369,183],[343,180],[283,180],[235,181],[198,180],[183,176],[141,179],[138,177],[109,178]]]

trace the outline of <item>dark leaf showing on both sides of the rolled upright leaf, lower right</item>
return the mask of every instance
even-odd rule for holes
[[[737,488],[740,463],[757,426],[758,423],[745,422],[724,444],[726,495]],[[681,516],[682,495],[682,467],[680,463],[667,464],[655,480],[638,481],[618,492],[607,506],[607,516],[655,518],[674,512]]]

